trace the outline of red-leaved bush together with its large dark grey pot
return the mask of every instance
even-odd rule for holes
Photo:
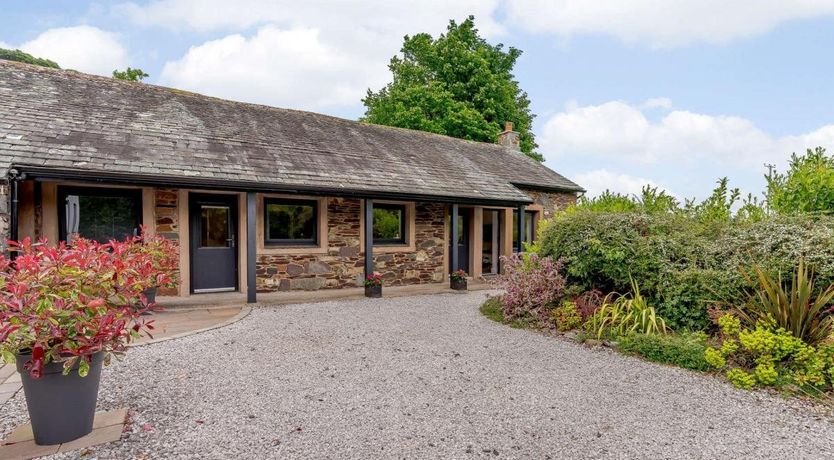
[[[90,433],[102,365],[153,329],[142,291],[169,279],[137,244],[27,238],[9,242],[14,261],[0,256],[0,354],[21,374],[37,444]]]

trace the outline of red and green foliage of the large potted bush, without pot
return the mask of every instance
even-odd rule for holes
[[[39,378],[45,364],[78,364],[85,376],[96,353],[124,353],[153,329],[142,313],[153,310],[142,291],[173,280],[160,261],[140,250],[140,238],[102,244],[78,238],[71,245],[46,240],[9,242],[14,261],[0,257],[0,354],[8,363],[30,355],[25,369]],[[150,335],[150,334],[148,334]]]

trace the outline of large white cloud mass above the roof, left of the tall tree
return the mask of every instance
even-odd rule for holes
[[[486,36],[498,0],[265,1],[157,0],[116,11],[144,26],[230,31],[166,63],[160,82],[213,96],[282,107],[355,106],[390,79],[387,64],[403,35],[446,30],[450,18],[476,15]],[[258,31],[232,33],[257,26]]]

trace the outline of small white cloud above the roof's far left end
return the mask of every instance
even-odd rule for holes
[[[92,26],[49,29],[16,48],[51,59],[64,69],[99,75],[109,76],[113,69],[128,65],[127,50],[118,36]]]

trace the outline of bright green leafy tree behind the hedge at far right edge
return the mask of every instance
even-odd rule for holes
[[[767,176],[767,203],[779,214],[834,214],[834,157],[823,147],[791,154],[786,173]]]

